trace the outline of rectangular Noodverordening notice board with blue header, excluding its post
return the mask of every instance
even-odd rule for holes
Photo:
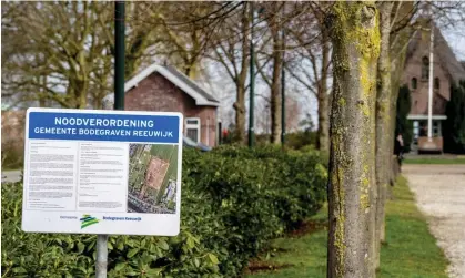
[[[22,229],[178,235],[181,162],[181,113],[29,109]]]

